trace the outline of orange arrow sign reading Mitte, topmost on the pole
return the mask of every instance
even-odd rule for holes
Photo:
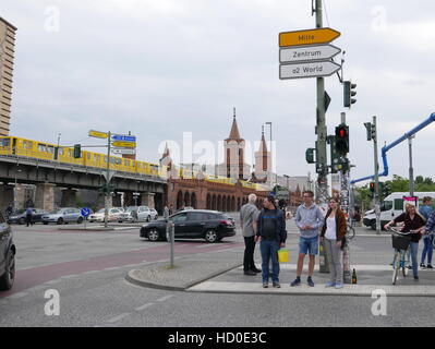
[[[341,35],[331,28],[279,33],[279,47],[327,44]]]

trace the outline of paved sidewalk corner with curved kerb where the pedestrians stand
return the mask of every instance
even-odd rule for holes
[[[362,239],[373,240],[360,238],[360,240]],[[288,248],[294,251],[297,241],[297,237],[289,237]],[[228,249],[222,243],[221,251],[200,252],[176,257],[174,268],[169,268],[168,260],[133,269],[128,273],[126,279],[143,287],[189,292],[372,297],[374,290],[380,289],[387,296],[435,297],[435,270],[420,269],[419,281],[413,279],[412,270],[409,270],[407,277],[400,275],[397,285],[392,286],[392,268],[388,263],[373,257],[362,260],[360,256],[355,256],[353,262],[351,260],[351,270],[353,268],[357,270],[358,285],[345,285],[343,289],[338,290],[325,288],[326,281],[329,280],[329,274],[318,272],[317,256],[313,276],[315,287],[312,288],[306,285],[306,260],[301,277],[302,285],[290,287],[289,282],[295,277],[297,255],[294,253],[290,255],[290,263],[280,264],[281,288],[273,288],[271,282],[269,282],[269,288],[264,289],[261,274],[256,276],[243,274],[243,245]],[[390,251],[388,252],[387,260],[390,256]],[[258,251],[255,252],[255,258],[259,267],[261,256]]]

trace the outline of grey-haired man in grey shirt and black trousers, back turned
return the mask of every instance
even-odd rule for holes
[[[255,266],[254,262],[256,220],[259,214],[255,206],[256,200],[257,196],[255,194],[250,194],[247,196],[247,204],[244,204],[240,209],[240,226],[244,238],[244,275],[256,275],[262,272]]]

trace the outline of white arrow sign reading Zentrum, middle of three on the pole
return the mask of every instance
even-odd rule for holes
[[[304,61],[329,60],[340,52],[341,49],[333,45],[281,48],[279,50],[279,62],[295,63]]]

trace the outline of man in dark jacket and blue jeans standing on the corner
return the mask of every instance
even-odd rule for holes
[[[271,260],[273,287],[279,285],[278,250],[286,246],[286,219],[281,209],[275,205],[275,197],[268,195],[263,201],[264,208],[258,215],[255,241],[259,241],[262,252],[263,287],[269,286],[269,261]]]

